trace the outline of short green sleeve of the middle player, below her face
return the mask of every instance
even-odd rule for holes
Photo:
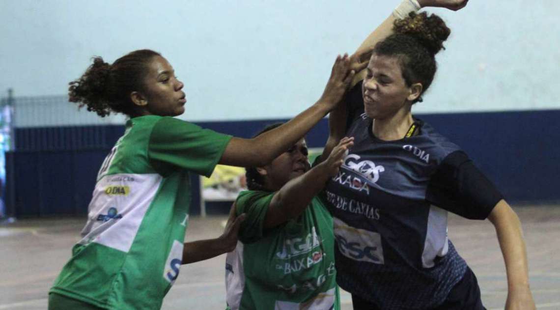
[[[235,201],[236,214],[246,213],[246,218],[239,229],[239,240],[252,243],[264,236],[264,218],[274,192],[243,191]]]

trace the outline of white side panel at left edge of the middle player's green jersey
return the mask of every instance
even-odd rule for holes
[[[231,310],[239,309],[243,289],[245,289],[243,243],[237,241],[235,250],[226,255],[226,301]]]

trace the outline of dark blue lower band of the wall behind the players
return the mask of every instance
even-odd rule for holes
[[[560,201],[560,110],[424,114],[419,118],[459,144],[510,203]],[[197,124],[250,137],[277,121],[282,120]],[[327,126],[323,120],[310,131],[310,147],[323,147]],[[7,154],[8,213],[16,217],[86,214],[97,170],[123,132],[124,126],[16,129],[17,151]],[[198,177],[192,181],[191,209],[197,214]]]

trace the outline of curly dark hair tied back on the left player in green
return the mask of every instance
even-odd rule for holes
[[[132,51],[106,63],[101,57],[94,57],[94,63],[83,75],[69,83],[68,101],[77,102],[78,106],[87,106],[104,117],[111,112],[123,113],[130,117],[138,115],[136,105],[130,99],[130,93],[144,88],[144,77],[148,63],[153,57],[161,56],[153,50]]]

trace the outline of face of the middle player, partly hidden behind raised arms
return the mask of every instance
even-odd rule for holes
[[[288,151],[276,157],[269,165],[264,167],[266,170],[265,178],[267,183],[274,187],[271,190],[278,190],[288,181],[301,176],[309,171],[310,165],[307,160],[307,145],[305,139],[299,140]]]

